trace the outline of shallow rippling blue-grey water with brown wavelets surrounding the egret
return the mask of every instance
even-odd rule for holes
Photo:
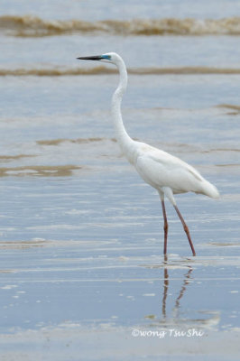
[[[214,23],[217,33],[205,22],[210,34],[197,36],[66,32],[66,23],[59,33],[42,33],[51,20],[98,26],[109,19],[148,18],[152,26],[151,19],[164,23],[172,17],[186,26],[188,16],[196,22],[226,16],[237,32],[238,21],[231,17],[239,5],[230,3],[131,1],[108,7],[101,1],[93,9],[71,2],[69,12],[54,1],[4,5],[0,355],[5,359],[77,360],[79,351],[84,360],[181,360],[192,353],[196,360],[237,359],[239,36],[226,32],[226,22]],[[27,14],[38,16],[41,26],[35,18],[30,24]],[[5,23],[6,15],[12,23]],[[16,33],[19,21],[24,34]],[[109,112],[115,69],[75,60],[112,50],[129,68],[123,101],[129,134],[196,166],[221,193],[217,201],[177,196],[197,257],[190,255],[170,204],[169,255],[162,256],[158,196],[115,141]],[[134,337],[134,329],[150,334]],[[172,338],[170,329],[197,329],[204,337]],[[155,338],[154,330],[167,334]]]

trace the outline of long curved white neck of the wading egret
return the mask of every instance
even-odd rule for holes
[[[118,87],[116,88],[112,97],[112,116],[115,125],[115,136],[123,153],[125,153],[126,158],[129,162],[132,162],[134,140],[126,133],[121,114],[122,98],[127,86],[127,72],[125,69],[124,60],[122,60],[122,58],[119,57],[115,65],[117,66],[120,75]]]

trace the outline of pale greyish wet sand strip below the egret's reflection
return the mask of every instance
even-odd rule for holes
[[[144,330],[148,336],[138,334],[134,337],[136,330]],[[159,335],[162,331],[158,329]],[[158,337],[157,329],[108,326],[93,329],[74,324],[21,330],[11,335],[0,335],[0,356],[6,361],[153,360],[157,356],[165,356],[168,360],[188,360],[192,355],[195,360],[202,360],[202,357],[211,361],[239,359],[240,329],[185,331],[184,335],[184,330],[180,328],[165,329],[165,337]]]

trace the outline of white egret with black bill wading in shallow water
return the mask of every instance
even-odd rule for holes
[[[115,125],[115,136],[127,160],[134,165],[136,171],[143,180],[155,188],[162,202],[162,213],[164,219],[164,255],[167,254],[168,220],[164,197],[171,201],[172,206],[180,218],[184,231],[189,239],[192,255],[196,255],[194,246],[184,219],[177,207],[174,194],[195,192],[217,199],[219,193],[217,188],[205,180],[198,171],[188,163],[170,153],[153,147],[152,145],[134,141],[125,130],[121,116],[121,102],[127,86],[127,72],[124,60],[115,52],[103,55],[80,57],[79,60],[98,60],[110,62],[116,65],[120,73],[118,87],[112,97],[112,117]]]

